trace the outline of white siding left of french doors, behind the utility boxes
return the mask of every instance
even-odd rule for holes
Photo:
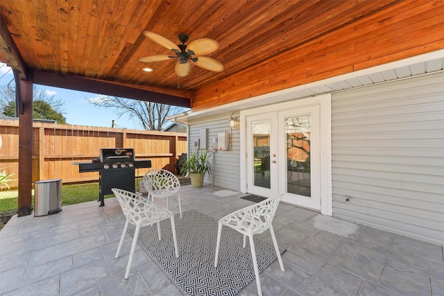
[[[233,116],[239,116],[234,114]],[[200,131],[207,128],[207,151],[213,153],[212,139],[216,138],[221,132],[230,133],[229,120],[230,114],[224,116],[212,116],[200,121],[189,122],[189,150],[196,151],[194,148],[194,141],[200,139]],[[217,150],[214,153],[214,159],[211,159],[213,164],[213,173],[205,175],[204,182],[214,184],[226,189],[240,191],[240,164],[239,164],[239,126],[231,129],[232,133],[232,148],[230,150]]]

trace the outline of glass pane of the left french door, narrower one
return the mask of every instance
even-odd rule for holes
[[[270,131],[271,121],[253,123],[253,172],[255,186],[271,188],[270,182]]]

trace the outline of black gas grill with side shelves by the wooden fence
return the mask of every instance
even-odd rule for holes
[[[151,168],[151,160],[136,160],[133,148],[102,148],[100,162],[81,162],[78,172],[99,172],[99,201],[104,206],[104,196],[112,188],[135,192],[135,168]],[[99,161],[99,159],[96,159]]]

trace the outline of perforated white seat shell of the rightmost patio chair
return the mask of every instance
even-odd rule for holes
[[[273,221],[281,198],[282,194],[267,198],[257,204],[234,211],[221,220],[223,220],[223,224],[241,230],[241,232],[260,234],[268,229]]]

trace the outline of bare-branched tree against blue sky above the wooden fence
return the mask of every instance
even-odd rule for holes
[[[126,114],[144,130],[162,130],[167,122],[167,116],[185,111],[183,107],[117,96],[99,96],[98,98],[90,98],[88,101],[97,107],[113,108],[119,118]]]

